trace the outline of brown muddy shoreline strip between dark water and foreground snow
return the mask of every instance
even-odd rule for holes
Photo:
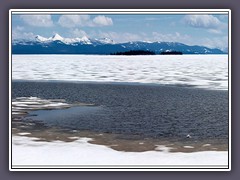
[[[19,124],[21,124],[19,122]],[[22,124],[21,124],[22,125]],[[217,143],[216,140],[193,142],[186,140],[177,141],[169,139],[152,139],[131,136],[126,139],[121,134],[109,134],[102,132],[80,131],[80,130],[62,130],[54,128],[46,128],[42,130],[25,130],[14,125],[12,128],[12,136],[21,136],[29,138],[37,138],[36,142],[74,142],[81,138],[91,138],[88,142],[95,145],[103,145],[120,152],[146,152],[146,151],[163,151],[158,146],[168,149],[169,153],[193,153],[204,151],[228,151],[228,144]],[[67,144],[66,144],[67,145]]]

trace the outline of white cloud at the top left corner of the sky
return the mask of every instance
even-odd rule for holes
[[[53,26],[51,15],[21,15],[20,18],[30,26],[36,27]]]

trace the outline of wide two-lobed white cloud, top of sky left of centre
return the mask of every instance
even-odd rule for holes
[[[58,20],[58,24],[62,27],[94,27],[94,26],[110,26],[113,24],[111,18],[106,16],[96,16],[91,19],[89,15],[62,15]]]

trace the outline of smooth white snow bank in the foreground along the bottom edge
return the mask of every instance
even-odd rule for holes
[[[74,142],[39,142],[36,138],[12,137],[12,165],[158,165],[158,166],[220,166],[227,167],[227,151],[204,151],[194,153],[170,153],[167,147],[160,151],[122,152],[103,145],[88,143],[90,138]]]

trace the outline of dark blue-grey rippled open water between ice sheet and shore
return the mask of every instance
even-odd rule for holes
[[[50,127],[151,138],[228,140],[228,92],[183,87],[13,82],[12,97],[65,99],[95,106],[33,111]]]

